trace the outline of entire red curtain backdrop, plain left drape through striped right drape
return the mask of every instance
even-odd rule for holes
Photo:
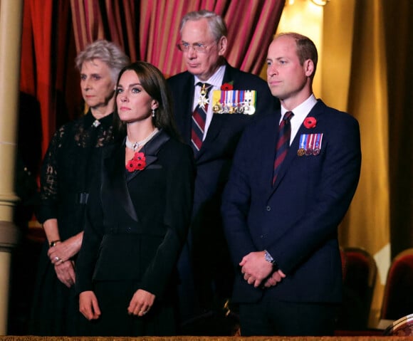
[[[105,38],[132,61],[156,65],[164,75],[183,71],[177,51],[179,22],[188,11],[209,9],[229,28],[231,65],[258,74],[276,32],[285,0],[26,0],[21,90],[41,103],[42,151],[58,125],[73,119],[81,103],[74,58]]]

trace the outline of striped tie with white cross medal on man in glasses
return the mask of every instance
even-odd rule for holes
[[[202,140],[205,132],[206,112],[208,111],[209,99],[208,93],[211,90],[211,85],[208,83],[197,83],[196,86],[201,87],[201,93],[198,100],[198,105],[192,112],[192,132],[191,146],[194,153],[197,154],[202,146]]]

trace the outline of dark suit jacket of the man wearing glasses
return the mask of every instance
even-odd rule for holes
[[[194,98],[194,75],[179,73],[168,79],[174,100],[174,116],[184,142],[190,144],[192,129],[192,105]],[[195,163],[193,227],[194,239],[199,240],[199,252],[211,255],[221,228],[221,194],[228,179],[232,158],[241,132],[253,120],[271,114],[279,107],[278,100],[271,95],[267,83],[256,75],[245,73],[226,63],[223,83],[233,83],[234,90],[256,90],[256,112],[254,115],[214,114],[206,138]],[[197,231],[209,231],[197,236]],[[224,236],[222,235],[224,238]],[[206,239],[205,239],[206,238]],[[210,242],[210,243],[209,243]],[[211,244],[213,243],[213,244]],[[204,249],[204,251],[202,251]]]

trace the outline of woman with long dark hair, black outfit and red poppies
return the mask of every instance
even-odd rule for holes
[[[132,63],[116,88],[117,140],[102,150],[76,268],[84,335],[174,335],[193,153],[179,142],[160,70]]]

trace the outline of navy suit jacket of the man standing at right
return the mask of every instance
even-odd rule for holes
[[[338,224],[360,177],[357,120],[321,100],[301,125],[272,185],[281,113],[257,122],[239,142],[222,214],[234,266],[234,301],[256,302],[264,290],[291,302],[339,302],[342,272]],[[320,154],[298,156],[300,136],[323,134]],[[286,273],[269,289],[253,288],[239,271],[248,253],[268,250]]]

